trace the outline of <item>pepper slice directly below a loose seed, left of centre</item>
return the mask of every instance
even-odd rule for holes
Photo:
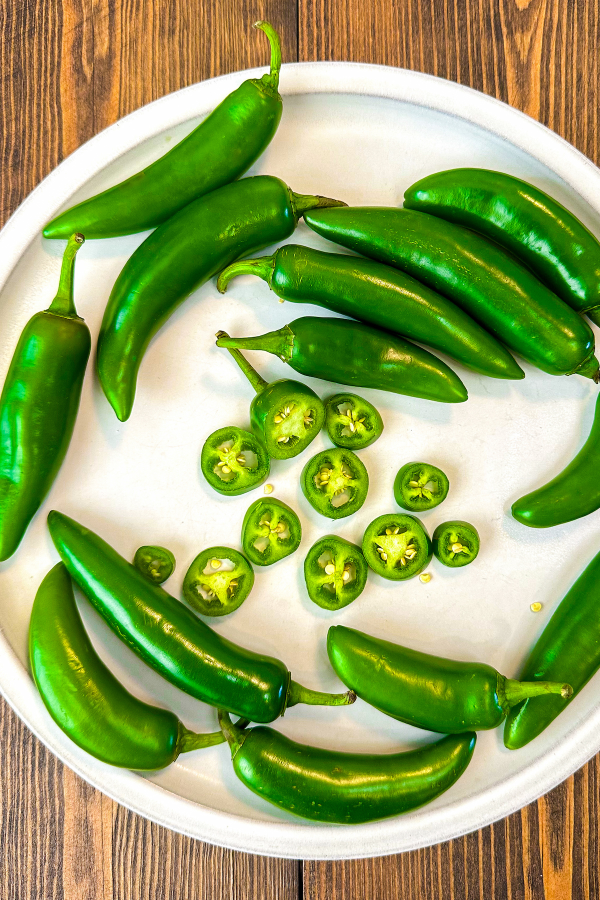
[[[296,513],[282,500],[255,500],[242,523],[242,547],[251,563],[272,565],[300,546],[302,527]]]

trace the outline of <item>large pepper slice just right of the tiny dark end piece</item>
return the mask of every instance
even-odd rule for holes
[[[225,569],[223,562],[232,563]],[[202,616],[228,616],[252,590],[255,573],[245,556],[230,547],[202,550],[185,572],[184,598]]]

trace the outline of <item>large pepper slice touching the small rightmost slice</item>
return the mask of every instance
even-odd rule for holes
[[[367,526],[363,554],[373,572],[390,581],[407,581],[429,565],[433,550],[417,518],[392,512]]]

